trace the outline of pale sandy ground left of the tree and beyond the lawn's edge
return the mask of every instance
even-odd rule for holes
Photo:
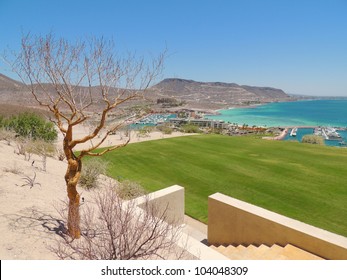
[[[76,137],[84,133],[81,128],[76,131]],[[153,132],[147,137],[137,137],[133,133],[131,142],[183,135]],[[122,143],[124,139],[124,135],[111,136],[104,146]],[[84,147],[80,145],[78,148]],[[48,158],[44,172],[39,157],[28,161],[14,153],[15,150],[14,145],[0,141],[0,259],[56,259],[48,247],[60,238],[62,230],[62,221],[54,205],[66,199],[66,162]],[[37,184],[30,188],[26,185],[26,176],[36,176]],[[79,192],[88,199],[88,193]]]

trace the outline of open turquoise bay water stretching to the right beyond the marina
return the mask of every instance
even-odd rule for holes
[[[250,126],[347,127],[347,99],[278,102],[219,112],[220,115],[206,117]]]

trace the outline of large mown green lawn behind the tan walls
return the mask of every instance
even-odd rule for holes
[[[103,157],[109,175],[155,191],[185,188],[186,213],[207,222],[220,192],[347,236],[347,149],[199,135],[128,145]]]

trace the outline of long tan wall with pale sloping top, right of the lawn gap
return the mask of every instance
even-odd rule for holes
[[[326,259],[347,259],[347,238],[220,193],[208,199],[211,245],[288,243]]]

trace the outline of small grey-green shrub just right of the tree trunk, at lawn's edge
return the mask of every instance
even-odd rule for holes
[[[98,178],[101,174],[106,174],[107,163],[98,158],[92,158],[82,165],[79,184],[87,190],[98,186]]]

